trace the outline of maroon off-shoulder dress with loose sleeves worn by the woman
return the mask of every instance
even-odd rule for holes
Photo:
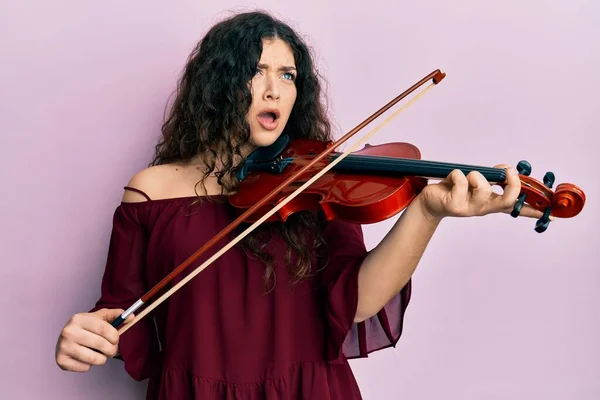
[[[92,310],[127,309],[236,217],[227,202],[190,208],[192,200],[117,207]],[[395,346],[410,282],[377,316],[354,323],[368,254],[361,227],[332,221],[324,234],[329,262],[315,278],[289,284],[280,261],[266,293],[263,264],[235,246],[123,333],[119,358],[134,379],[149,379],[147,399],[360,399],[347,359]],[[283,260],[282,238],[273,236],[268,249]],[[313,261],[314,270],[323,262]]]

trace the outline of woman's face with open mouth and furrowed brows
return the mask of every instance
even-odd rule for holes
[[[253,147],[271,145],[283,129],[296,101],[296,64],[289,45],[279,39],[263,40],[263,51],[250,91],[247,118]]]

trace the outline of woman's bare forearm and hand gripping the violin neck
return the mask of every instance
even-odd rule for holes
[[[514,168],[502,167],[508,173],[501,195],[492,192],[479,172],[465,176],[456,170],[447,179],[425,187],[365,258],[358,277],[356,322],[377,314],[406,285],[443,218],[512,210],[521,181]],[[542,213],[525,205],[520,215],[539,218]]]

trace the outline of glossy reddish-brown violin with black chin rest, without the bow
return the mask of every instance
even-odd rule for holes
[[[237,175],[241,185],[237,193],[229,196],[230,204],[242,214],[243,210],[258,203],[271,188],[302,169],[331,144],[310,139],[290,141],[289,137],[282,135],[273,145],[249,156]],[[314,164],[246,221],[258,220],[339,156],[340,153],[332,153]],[[370,224],[395,216],[412,202],[428,184],[428,179],[444,179],[454,169],[465,175],[478,171],[488,182],[499,186],[503,186],[506,180],[503,168],[426,161],[420,156],[419,149],[410,143],[367,144],[362,150],[345,157],[266,221],[285,221],[294,212],[314,210],[323,212],[328,221],[343,219]],[[519,216],[525,203],[542,211],[544,214],[536,222],[536,232],[542,233],[548,228],[551,215],[571,218],[582,210],[585,194],[577,186],[562,183],[552,192],[555,181],[552,172],[544,175],[542,184],[529,177],[531,164],[526,160],[520,161],[516,168],[520,174],[521,194],[511,215]]]

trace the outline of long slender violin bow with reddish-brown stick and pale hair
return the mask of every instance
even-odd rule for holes
[[[352,136],[354,136],[358,131],[360,131],[361,129],[363,129],[366,125],[370,124],[374,119],[378,118],[381,114],[383,114],[384,112],[386,112],[388,109],[390,109],[396,103],[398,103],[400,100],[402,100],[405,97],[407,97],[408,95],[410,95],[412,92],[414,92],[415,90],[417,90],[419,87],[421,87],[422,85],[424,85],[426,82],[428,82],[430,80],[432,81],[432,83],[429,86],[427,86],[425,89],[423,89],[417,95],[415,95],[415,97],[413,97],[410,101],[408,101],[404,106],[402,106],[397,111],[395,111],[392,115],[390,115],[389,117],[387,117],[383,123],[381,123],[379,126],[377,126],[375,129],[373,129],[371,132],[367,133],[359,141],[357,141],[352,146],[350,146],[348,149],[346,149],[341,155],[339,155],[338,157],[336,157],[331,163],[329,163],[327,166],[325,166],[323,169],[321,169],[319,171],[319,173],[317,173],[316,175],[314,175],[306,183],[304,183],[302,186],[300,186],[298,189],[296,189],[294,192],[292,192],[284,200],[282,200],[275,207],[273,207],[273,209],[271,209],[269,212],[267,212],[265,215],[263,215],[259,220],[257,220],[256,222],[254,222],[251,226],[249,226],[244,232],[240,233],[231,242],[227,243],[223,248],[221,248],[213,256],[211,256],[209,259],[207,259],[203,264],[201,264],[200,266],[198,266],[194,271],[192,271],[189,275],[187,275],[185,278],[183,278],[181,281],[179,281],[176,285],[174,285],[172,288],[170,288],[167,292],[165,292],[156,301],[154,301],[153,303],[151,303],[150,305],[148,305],[144,310],[142,310],[142,312],[140,314],[136,315],[135,318],[131,322],[125,324],[123,327],[121,327],[118,330],[119,335],[125,333],[128,329],[130,329],[133,325],[135,325],[135,323],[137,323],[140,319],[142,319],[144,316],[146,316],[148,313],[150,313],[154,308],[156,308],[157,306],[159,306],[163,301],[165,301],[173,293],[175,293],[177,290],[179,290],[183,285],[185,285],[187,282],[189,282],[192,278],[194,278],[196,275],[198,275],[200,272],[202,272],[205,268],[207,268],[210,264],[212,264],[217,258],[221,257],[221,255],[223,255],[227,250],[229,250],[231,247],[233,247],[235,244],[237,244],[240,240],[242,240],[244,237],[246,237],[250,232],[252,232],[254,229],[256,229],[265,220],[267,220],[271,215],[273,215],[274,213],[276,213],[280,208],[282,208],[283,206],[285,206],[294,197],[296,197],[300,193],[302,193],[302,191],[304,191],[307,187],[309,187],[310,185],[312,185],[317,179],[319,179],[327,171],[329,171],[331,168],[333,168],[337,163],[339,163],[340,161],[342,161],[348,154],[350,154],[351,152],[353,152],[354,150],[356,150],[361,144],[363,144],[364,142],[366,142],[371,136],[373,136],[381,128],[383,128],[385,125],[387,125],[392,119],[396,118],[401,112],[403,112],[404,110],[406,110],[406,108],[408,108],[410,105],[412,105],[413,103],[415,103],[418,99],[420,99],[423,95],[425,95],[425,93],[427,91],[429,91],[434,85],[437,85],[439,82],[441,82],[445,77],[446,77],[446,74],[443,73],[443,72],[441,72],[439,69],[431,72],[430,74],[428,74],[427,76],[425,76],[423,79],[421,79],[420,81],[418,81],[417,83],[415,83],[414,85],[412,85],[410,88],[408,88],[407,90],[405,90],[403,93],[401,93],[400,95],[396,96],[394,99],[392,99],[385,106],[383,106],[378,111],[376,111],[375,113],[373,113],[371,116],[369,116],[363,122],[361,122],[360,124],[358,124],[354,129],[352,129],[351,131],[349,131],[348,133],[346,133],[344,136],[342,136],[339,140],[337,140],[336,142],[334,142],[331,146],[329,146],[327,149],[325,149],[323,152],[321,152],[321,154],[319,154],[318,156],[316,156],[311,162],[309,162],[302,169],[300,169],[295,174],[293,174],[292,176],[290,176],[287,180],[285,180],[284,182],[282,182],[279,186],[277,186],[276,188],[274,188],[267,196],[265,196],[259,202],[257,202],[252,207],[250,207],[249,209],[247,209],[243,214],[241,214],[240,216],[238,216],[237,219],[235,219],[227,227],[225,227],[223,230],[221,230],[221,232],[219,232],[211,240],[209,240],[208,242],[206,242],[204,244],[204,246],[202,246],[200,249],[198,249],[196,252],[194,252],[191,256],[189,256],[177,268],[175,268],[173,271],[171,271],[160,282],[158,282],[152,289],[150,289],[146,294],[144,294],[140,299],[138,299],[131,307],[129,307],[127,310],[125,310],[117,319],[115,319],[111,323],[111,325],[113,327],[115,327],[115,328],[119,327],[131,314],[133,314],[141,306],[143,306],[144,304],[146,304],[148,302],[148,300],[150,300],[152,297],[154,297],[154,295],[156,295],[156,293],[158,291],[160,291],[162,288],[164,288],[177,275],[179,275],[181,272],[183,272],[184,269],[186,269],[187,267],[189,267],[190,264],[192,264],[194,261],[196,261],[210,247],[214,246],[218,241],[220,241],[227,234],[229,234],[231,231],[233,231],[247,217],[249,217],[250,215],[252,215],[252,213],[254,213],[255,211],[257,211],[260,207],[262,207],[263,204],[265,204],[267,201],[269,201],[271,198],[273,198],[276,194],[278,194],[284,188],[286,188],[287,186],[289,186],[293,181],[295,181],[298,177],[300,177],[302,174],[304,174],[309,168],[312,168],[313,165],[315,165],[316,163],[318,163],[319,161],[321,161],[325,156],[327,156],[328,154],[330,154],[334,149],[336,149],[337,147],[339,147],[340,145],[342,145],[343,143],[345,143],[348,139],[350,139]]]

